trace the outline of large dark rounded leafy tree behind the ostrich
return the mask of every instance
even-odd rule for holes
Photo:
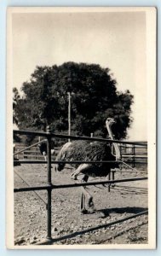
[[[113,117],[116,138],[126,137],[131,124],[133,96],[120,92],[108,68],[95,64],[66,62],[61,66],[36,67],[23,96],[14,89],[14,122],[20,129],[67,132],[68,95],[72,98],[72,134],[106,137],[105,121]]]

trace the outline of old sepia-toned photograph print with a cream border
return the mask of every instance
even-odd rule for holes
[[[7,15],[7,247],[155,248],[157,9]]]

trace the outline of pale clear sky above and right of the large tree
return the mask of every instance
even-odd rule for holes
[[[20,89],[36,66],[66,61],[109,67],[118,90],[134,95],[129,140],[147,140],[145,12],[14,13],[13,86]]]

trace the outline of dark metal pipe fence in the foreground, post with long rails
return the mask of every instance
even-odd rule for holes
[[[82,187],[82,186],[92,186],[92,185],[99,185],[99,184],[112,184],[112,183],[125,183],[130,181],[138,181],[138,180],[145,180],[147,177],[137,177],[137,178],[126,178],[126,179],[119,179],[119,180],[106,180],[101,182],[90,182],[90,183],[73,183],[73,184],[63,184],[63,185],[54,185],[51,181],[51,164],[52,163],[60,163],[61,161],[52,161],[51,160],[51,138],[52,137],[59,137],[59,138],[66,138],[66,139],[74,139],[74,140],[88,140],[88,141],[99,141],[104,143],[122,143],[122,144],[130,144],[130,145],[138,145],[138,146],[144,146],[147,147],[147,143],[134,143],[134,142],[126,142],[126,141],[118,141],[118,140],[110,140],[110,139],[104,139],[104,138],[95,138],[95,137],[79,137],[79,136],[67,136],[67,135],[61,135],[61,134],[55,134],[51,133],[49,130],[49,127],[47,128],[47,132],[40,132],[40,131],[14,131],[14,134],[21,134],[21,135],[35,135],[35,136],[41,136],[46,137],[47,141],[47,185],[46,186],[37,186],[37,187],[26,187],[26,188],[20,188],[20,189],[14,189],[14,193],[17,192],[25,192],[25,191],[35,191],[35,190],[47,190],[48,193],[48,202],[47,202],[47,240],[52,241],[51,236],[51,193],[52,189],[66,189],[66,188],[75,188],[75,187]],[[37,144],[37,143],[35,143]],[[29,146],[27,148],[32,148],[35,146],[33,144],[32,146]],[[23,149],[22,149],[23,151]],[[16,153],[15,153],[16,154]],[[46,161],[42,160],[36,160],[36,161],[28,161],[28,160],[14,160],[14,162],[19,162],[23,164],[46,164]],[[99,163],[100,161],[63,161],[63,163],[66,164],[74,164],[74,163]],[[104,161],[104,162],[112,162],[112,161]],[[116,162],[116,161],[113,161]],[[119,161],[118,161],[119,162]],[[129,163],[129,162],[128,162]]]

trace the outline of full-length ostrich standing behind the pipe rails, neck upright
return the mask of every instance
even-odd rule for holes
[[[114,119],[106,119],[106,128],[109,133],[109,137],[112,137],[111,126],[114,124]],[[117,143],[113,143],[115,148],[116,156],[112,154],[112,148],[110,143],[89,143],[86,141],[73,141],[72,143],[66,143],[56,157],[57,161],[66,160],[84,160],[84,161],[112,161],[107,163],[83,163],[83,164],[72,164],[75,167],[75,171],[72,172],[71,178],[77,180],[79,174],[83,175],[82,182],[87,183],[89,177],[106,177],[112,169],[118,168],[118,162],[113,162],[120,159],[120,152]],[[62,171],[66,163],[59,163],[55,165],[55,171]],[[86,187],[81,187],[81,212],[95,212],[93,196],[89,194]],[[89,211],[86,209],[85,201],[88,198],[87,205]]]

